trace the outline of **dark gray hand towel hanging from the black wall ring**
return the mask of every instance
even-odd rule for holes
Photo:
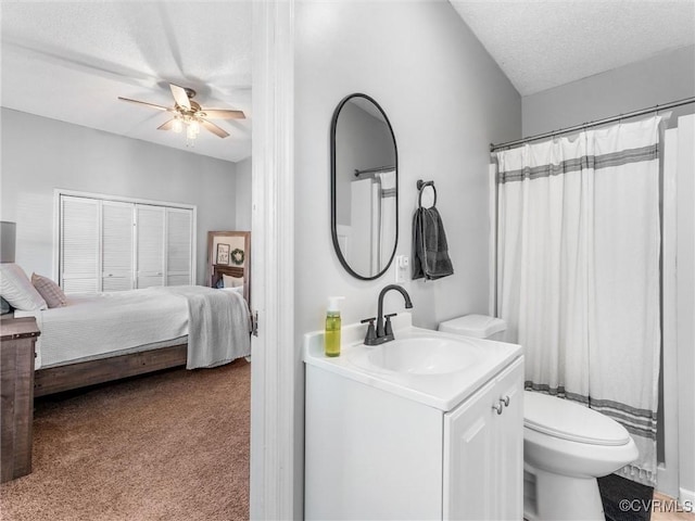
[[[442,217],[433,206],[415,211],[413,252],[413,279],[434,280],[454,274]]]

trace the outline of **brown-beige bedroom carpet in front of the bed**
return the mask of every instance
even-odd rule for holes
[[[1,485],[0,519],[248,519],[250,367],[37,401],[34,472]]]

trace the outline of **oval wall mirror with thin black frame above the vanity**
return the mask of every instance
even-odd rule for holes
[[[375,100],[351,94],[338,104],[330,153],[336,253],[354,277],[376,279],[395,254],[399,169],[393,129]]]

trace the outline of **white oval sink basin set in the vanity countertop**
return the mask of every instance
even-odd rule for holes
[[[410,338],[371,347],[369,364],[409,374],[444,374],[460,371],[480,360],[479,353],[452,339]]]

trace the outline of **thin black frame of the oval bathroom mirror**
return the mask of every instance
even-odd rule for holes
[[[383,116],[383,120],[387,122],[387,126],[389,127],[389,131],[391,132],[391,140],[393,141],[393,154],[395,157],[394,161],[394,167],[395,167],[395,240],[393,241],[393,252],[391,252],[391,257],[389,258],[389,262],[387,263],[387,265],[383,267],[383,269],[381,271],[379,271],[377,275],[374,275],[371,277],[365,277],[364,275],[359,275],[357,272],[355,272],[354,269],[352,269],[352,267],[350,266],[350,264],[348,264],[348,260],[345,259],[345,257],[343,256],[342,251],[340,250],[340,244],[338,242],[338,230],[337,230],[337,212],[336,212],[336,188],[337,188],[337,182],[336,182],[336,127],[338,125],[338,116],[340,115],[340,111],[343,107],[343,105],[345,103],[348,103],[350,100],[352,100],[353,98],[364,98],[367,101],[371,102],[381,113],[381,115]],[[331,124],[330,124],[330,232],[331,232],[331,237],[333,240],[333,250],[336,250],[336,254],[338,255],[338,259],[340,260],[340,264],[342,264],[343,268],[345,268],[345,271],[348,271],[350,275],[352,275],[353,277],[355,277],[356,279],[361,279],[361,280],[375,280],[378,279],[379,277],[381,277],[382,275],[384,275],[387,272],[387,270],[391,267],[391,264],[393,263],[393,257],[395,256],[395,251],[397,249],[399,245],[399,148],[397,144],[395,142],[395,134],[393,134],[393,127],[391,127],[391,122],[389,120],[389,117],[387,116],[386,112],[383,112],[383,109],[381,109],[381,105],[379,105],[379,103],[377,103],[374,98],[364,94],[364,93],[353,93],[353,94],[349,94],[345,98],[343,98],[340,103],[338,103],[338,106],[336,107],[336,111],[333,112],[333,117],[331,119]]]

